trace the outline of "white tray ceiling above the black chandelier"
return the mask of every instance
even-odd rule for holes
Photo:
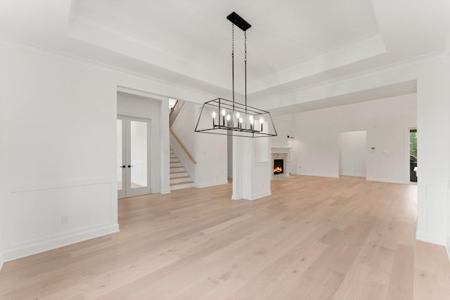
[[[231,23],[248,30],[250,100],[446,51],[446,0],[4,0],[0,33],[217,96],[231,89]],[[243,92],[236,29],[236,89]]]

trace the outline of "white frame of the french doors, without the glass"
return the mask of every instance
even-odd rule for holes
[[[151,193],[151,133],[150,119],[117,115],[122,120],[122,190],[117,191],[118,197],[130,197]],[[131,121],[147,123],[147,186],[142,188],[131,188]],[[119,178],[117,178],[119,179]]]

